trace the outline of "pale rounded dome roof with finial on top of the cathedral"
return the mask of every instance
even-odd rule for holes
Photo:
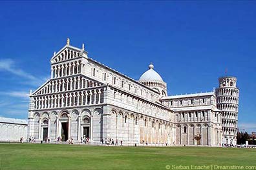
[[[149,64],[149,70],[145,71],[145,73],[140,76],[139,81],[162,81],[162,77],[154,70],[153,64]]]

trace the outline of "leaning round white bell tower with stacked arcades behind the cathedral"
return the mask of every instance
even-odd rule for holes
[[[222,111],[222,143],[237,144],[239,88],[236,77],[220,77],[215,91],[217,108]]]

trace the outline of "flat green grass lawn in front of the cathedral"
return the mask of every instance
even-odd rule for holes
[[[0,169],[173,169],[173,165],[256,165],[256,149],[0,144]],[[177,169],[178,167],[176,167]]]

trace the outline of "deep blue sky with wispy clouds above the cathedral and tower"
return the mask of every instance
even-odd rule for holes
[[[27,118],[29,90],[50,77],[70,38],[89,57],[138,79],[149,62],[169,95],[212,91],[236,76],[239,127],[256,131],[255,1],[0,2],[0,116]]]

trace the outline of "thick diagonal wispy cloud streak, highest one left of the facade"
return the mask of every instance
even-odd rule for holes
[[[27,80],[30,80],[30,82],[28,82],[30,85],[39,86],[45,80],[45,79],[37,78],[34,75],[32,75],[30,73],[27,73],[26,71],[17,68],[15,61],[12,60],[12,59],[1,59],[0,60],[0,71],[1,70],[2,71],[8,71],[8,72],[10,72],[14,75],[17,75],[19,77],[23,77]]]

